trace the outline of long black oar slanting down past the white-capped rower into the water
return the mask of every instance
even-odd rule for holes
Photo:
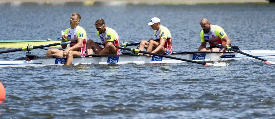
[[[133,49],[133,48],[130,49],[130,48],[125,48],[125,47],[121,47],[121,46],[116,46],[116,48],[123,49],[123,50],[129,50],[129,51],[131,51],[133,53],[144,53],[144,54],[149,54],[149,55],[154,55],[154,56],[166,57],[166,58],[170,58],[170,59],[174,59],[174,60],[182,60],[182,61],[185,61],[185,62],[202,64],[204,66],[218,66],[217,64],[196,62],[196,61],[192,61],[192,60],[186,60],[186,59],[181,59],[181,58],[177,58],[177,57],[172,57],[172,56],[167,56],[167,55],[162,55],[162,54],[156,54],[156,53],[152,53],[152,52],[141,51],[139,49]]]

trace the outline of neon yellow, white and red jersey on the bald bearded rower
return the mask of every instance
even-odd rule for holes
[[[204,30],[200,32],[201,42],[205,42],[204,40],[212,41],[221,45],[225,45],[225,41],[222,40],[226,36],[226,33],[222,29],[222,27],[217,25],[211,25],[211,30],[208,33],[204,33]],[[214,44],[209,43],[210,46],[216,46]]]

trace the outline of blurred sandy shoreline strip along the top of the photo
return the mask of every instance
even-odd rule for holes
[[[195,4],[227,4],[227,3],[257,3],[268,4],[269,0],[0,0],[4,6],[32,6],[32,5],[195,5]]]

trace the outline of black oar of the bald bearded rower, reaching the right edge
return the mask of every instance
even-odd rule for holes
[[[227,49],[227,50],[231,50],[231,51],[234,51],[234,52],[237,52],[237,53],[246,55],[246,56],[250,56],[250,57],[255,58],[255,59],[257,59],[257,60],[261,60],[261,61],[263,61],[264,63],[269,64],[269,65],[275,64],[275,63],[272,62],[272,61],[267,61],[267,60],[264,60],[264,59],[259,58],[259,57],[256,57],[256,56],[252,56],[252,55],[250,55],[250,54],[247,54],[247,53],[241,52],[241,51],[239,51],[239,50],[233,49],[233,48],[231,48],[231,47],[229,47],[229,46],[224,46],[224,45],[221,45],[221,44],[218,44],[218,43],[215,43],[215,42],[212,42],[212,41],[208,41],[208,40],[205,40],[205,41],[207,41],[207,42],[209,42],[209,43],[211,43],[211,44],[217,45],[217,46],[219,46],[219,47],[221,47],[221,48],[224,48],[224,49]]]

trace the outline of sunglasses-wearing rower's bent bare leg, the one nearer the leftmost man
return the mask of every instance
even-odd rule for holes
[[[86,43],[86,54],[91,55],[93,53],[99,54],[101,52],[102,48],[95,43],[93,40],[88,40]],[[89,56],[92,57],[92,56]]]

